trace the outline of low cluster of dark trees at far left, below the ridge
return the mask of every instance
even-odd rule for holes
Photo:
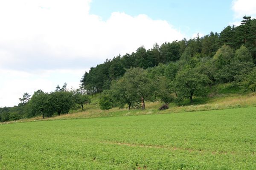
[[[32,97],[25,93],[20,98],[18,106],[0,108],[0,122],[14,121],[17,119],[35,116],[52,117],[68,113],[71,108],[84,110],[84,105],[90,103],[87,94],[81,89],[68,90],[67,83],[62,88],[59,85],[51,93],[35,91]]]

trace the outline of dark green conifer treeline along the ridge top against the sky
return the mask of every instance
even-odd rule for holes
[[[89,73],[85,72],[81,79],[81,88],[84,88],[90,95],[109,90],[111,89],[111,82],[120,79],[130,68],[154,68],[160,63],[177,62],[180,70],[180,68],[186,67],[185,65],[190,60],[200,60],[205,63],[209,59],[213,59],[213,56],[223,45],[230,47],[230,53],[243,45],[243,48],[248,50],[250,61],[256,63],[256,19],[251,20],[251,17],[244,16],[240,26],[227,26],[221,33],[211,32],[201,38],[199,36],[189,40],[184,38],[181,41],[165,42],[161,46],[155,44],[149,50],[142,46],[131,54],[119,55],[112,60],[107,59],[103,64],[91,67]],[[234,58],[232,56],[233,54],[230,55],[231,60]],[[228,67],[232,67],[232,65]],[[220,65],[216,65],[216,67],[219,69]],[[222,68],[222,71],[225,71],[224,69],[232,68]],[[211,79],[213,78],[211,77]],[[227,78],[221,81],[230,82],[233,80]]]

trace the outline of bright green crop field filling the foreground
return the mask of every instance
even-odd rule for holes
[[[256,108],[0,125],[0,170],[255,170]]]

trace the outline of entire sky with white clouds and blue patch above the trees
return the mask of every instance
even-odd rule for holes
[[[220,32],[244,15],[256,18],[255,0],[2,0],[0,107],[65,82],[78,88],[106,59]]]

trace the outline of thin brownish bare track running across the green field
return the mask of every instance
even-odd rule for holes
[[[215,154],[228,154],[228,152],[222,152],[222,151],[210,151],[210,150],[193,150],[193,149],[187,149],[187,148],[180,148],[180,147],[166,147],[166,146],[157,146],[157,145],[144,145],[144,144],[131,144],[131,143],[125,143],[125,142],[100,142],[103,144],[117,144],[121,146],[129,146],[129,147],[144,147],[144,148],[156,148],[156,149],[166,149],[166,150],[183,150],[183,151],[189,151],[189,152],[201,152],[201,153],[212,153]],[[235,155],[236,153],[230,152],[230,154]]]

